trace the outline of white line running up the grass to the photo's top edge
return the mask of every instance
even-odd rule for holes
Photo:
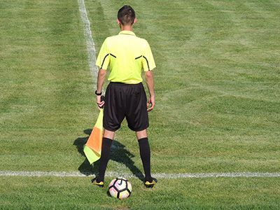
[[[85,36],[85,41],[87,43],[87,55],[88,55],[88,64],[90,66],[90,73],[92,75],[92,83],[94,86],[97,85],[97,75],[98,67],[95,65],[96,62],[96,50],[94,41],[92,38],[92,31],[90,29],[90,20],[87,17],[87,10],[85,8],[85,2],[83,0],[78,0],[78,6],[80,10],[80,18],[83,21],[83,34]],[[95,88],[95,87],[94,87]],[[103,90],[102,90],[103,92]]]

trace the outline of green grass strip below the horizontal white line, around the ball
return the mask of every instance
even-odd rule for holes
[[[7,209],[277,209],[277,179],[162,179],[148,190],[132,179],[132,195],[116,200],[107,188],[93,188],[87,178],[6,177],[1,178],[1,204]]]

